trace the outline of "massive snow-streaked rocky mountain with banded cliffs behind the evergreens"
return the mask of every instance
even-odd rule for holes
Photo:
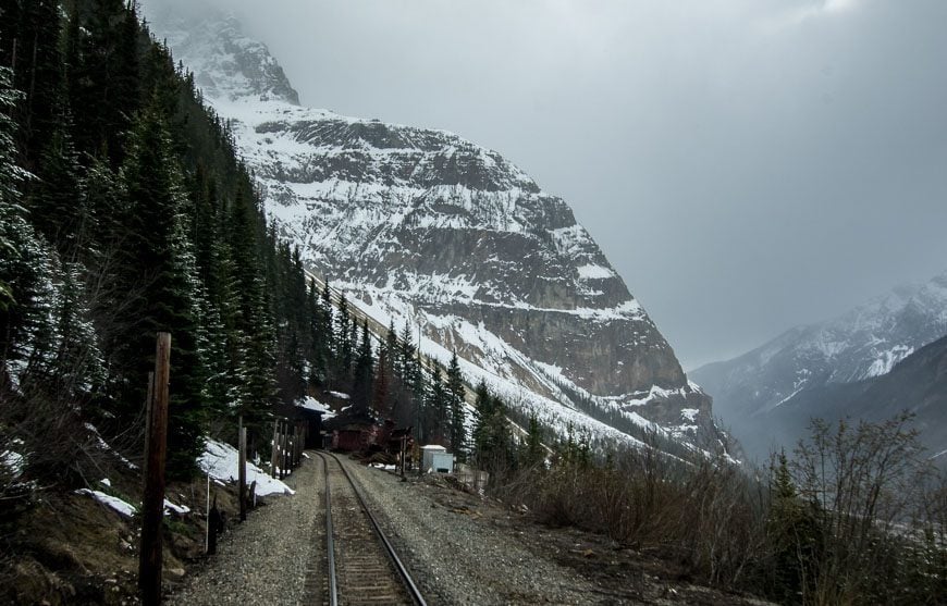
[[[233,18],[149,18],[232,121],[280,232],[379,322],[551,426],[716,443],[710,398],[562,199],[452,133],[300,107]]]

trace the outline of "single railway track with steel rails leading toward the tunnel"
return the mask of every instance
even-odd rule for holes
[[[325,472],[324,604],[427,606],[342,461],[319,456]]]

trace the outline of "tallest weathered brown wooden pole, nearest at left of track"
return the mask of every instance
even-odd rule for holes
[[[153,383],[149,385],[145,435],[145,495],[142,499],[142,554],[138,589],[146,606],[161,603],[161,524],[164,514],[164,459],[168,452],[168,384],[171,334],[158,333]]]

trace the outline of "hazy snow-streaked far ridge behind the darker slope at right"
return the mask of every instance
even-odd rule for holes
[[[944,335],[947,272],[921,285],[895,288],[834,320],[792,329],[738,358],[703,366],[691,376],[713,396],[717,415],[736,436],[761,454],[779,437],[774,419],[791,415],[795,404],[810,403],[805,419],[819,415],[811,403],[827,401],[828,396],[816,397],[815,391],[828,388],[820,392],[827,394],[835,385],[886,375]],[[792,410],[773,416],[784,408]]]

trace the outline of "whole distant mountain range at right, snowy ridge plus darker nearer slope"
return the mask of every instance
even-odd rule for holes
[[[922,438],[939,452],[947,448],[944,335],[947,272],[835,320],[792,329],[691,376],[713,396],[716,413],[747,452],[760,458],[777,444],[795,444],[811,417],[880,420],[901,409],[918,413]]]

